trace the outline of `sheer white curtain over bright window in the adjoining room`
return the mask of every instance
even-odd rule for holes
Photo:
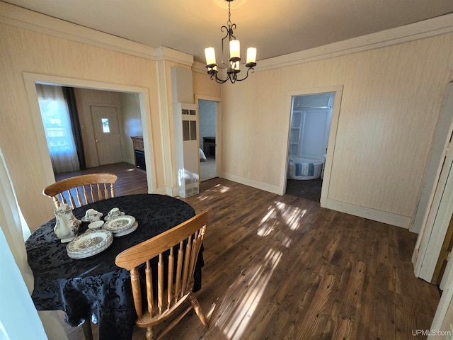
[[[42,124],[55,174],[80,169],[71,118],[61,86],[36,84]]]

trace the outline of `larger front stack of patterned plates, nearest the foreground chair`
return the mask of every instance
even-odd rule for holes
[[[107,230],[93,230],[82,234],[66,246],[71,259],[84,259],[101,253],[113,242],[113,234]]]

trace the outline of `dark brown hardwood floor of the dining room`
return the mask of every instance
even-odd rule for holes
[[[212,209],[196,293],[210,328],[190,312],[164,339],[418,339],[430,329],[440,294],[413,276],[407,229],[225,179],[185,201]]]

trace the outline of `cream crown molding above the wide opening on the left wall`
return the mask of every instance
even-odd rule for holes
[[[45,33],[86,45],[106,48],[150,60],[156,60],[156,49],[124,38],[62,21],[51,16],[0,1],[0,23]]]

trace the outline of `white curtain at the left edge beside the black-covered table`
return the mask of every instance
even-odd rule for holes
[[[24,242],[29,235],[0,149],[0,339],[67,339],[57,312],[37,312],[31,300],[33,273]]]

